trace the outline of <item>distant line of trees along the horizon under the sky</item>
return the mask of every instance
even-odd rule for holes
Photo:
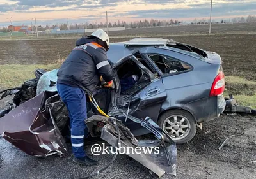
[[[236,18],[230,18],[228,20],[212,20],[212,24],[224,24],[224,23],[239,23],[239,22],[256,22],[256,16],[249,15],[248,17],[236,17]],[[170,25],[177,25],[183,23],[182,21],[179,20],[156,20],[156,19],[151,19],[151,20],[140,20],[140,21],[134,21],[134,22],[125,22],[122,21],[120,22],[114,22],[108,23],[108,27],[125,27],[127,28],[143,28],[143,27],[161,27],[161,26],[170,26]],[[186,23],[184,23],[186,24]],[[203,18],[203,19],[196,19],[193,20],[193,22],[189,23],[191,25],[196,25],[196,24],[209,24],[209,20]],[[29,26],[29,25],[28,25]],[[29,26],[31,27],[31,26]],[[54,29],[55,27],[60,27],[61,30],[67,30],[67,29],[97,29],[97,28],[104,28],[107,27],[106,22],[98,23],[98,22],[85,22],[85,23],[80,23],[80,24],[56,24],[56,25],[45,25],[45,27],[42,27],[42,25],[38,26],[38,31],[45,31],[47,29]],[[32,27],[33,31],[35,31],[35,26]],[[0,29],[0,32],[8,32],[8,27],[3,27]]]

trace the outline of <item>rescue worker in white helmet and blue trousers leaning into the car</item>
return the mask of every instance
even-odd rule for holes
[[[102,29],[97,29],[91,36],[76,41],[76,47],[58,70],[58,93],[67,106],[70,117],[73,161],[82,165],[97,165],[84,151],[84,138],[89,135],[84,120],[87,118],[86,96],[83,85],[91,94],[95,92],[100,78],[113,84],[113,71],[106,52],[109,49],[109,36]]]

